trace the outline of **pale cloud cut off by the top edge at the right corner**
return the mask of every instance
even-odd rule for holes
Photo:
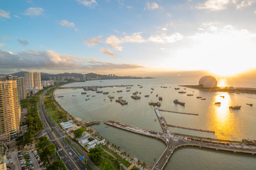
[[[240,9],[251,6],[255,2],[255,0],[207,0],[203,4],[198,4],[196,8],[220,11],[227,8],[229,4],[234,4],[236,8]]]

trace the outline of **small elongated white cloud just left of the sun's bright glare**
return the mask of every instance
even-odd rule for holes
[[[174,33],[171,35],[166,35],[166,33],[161,33],[159,35],[151,35],[149,41],[157,43],[174,43],[176,41],[182,40],[183,35],[180,33]]]

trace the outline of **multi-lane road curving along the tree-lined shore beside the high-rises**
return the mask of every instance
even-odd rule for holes
[[[69,170],[76,170],[76,169],[85,169],[89,170],[89,168],[80,160],[80,154],[65,140],[63,139],[64,135],[60,135],[58,127],[55,127],[53,123],[50,121],[45,108],[43,107],[43,95],[39,98],[39,115],[42,120],[43,126],[46,129],[46,133],[50,140],[52,140],[53,144],[56,147],[56,150],[60,156],[60,159],[63,160],[65,166]]]

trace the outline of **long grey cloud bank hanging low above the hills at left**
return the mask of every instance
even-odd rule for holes
[[[110,62],[100,62],[95,59],[86,60],[85,58],[71,55],[59,54],[54,51],[45,50],[23,50],[12,54],[0,50],[0,68],[11,69],[55,69],[55,70],[113,70],[113,69],[139,69],[144,68],[137,64],[114,64]]]

